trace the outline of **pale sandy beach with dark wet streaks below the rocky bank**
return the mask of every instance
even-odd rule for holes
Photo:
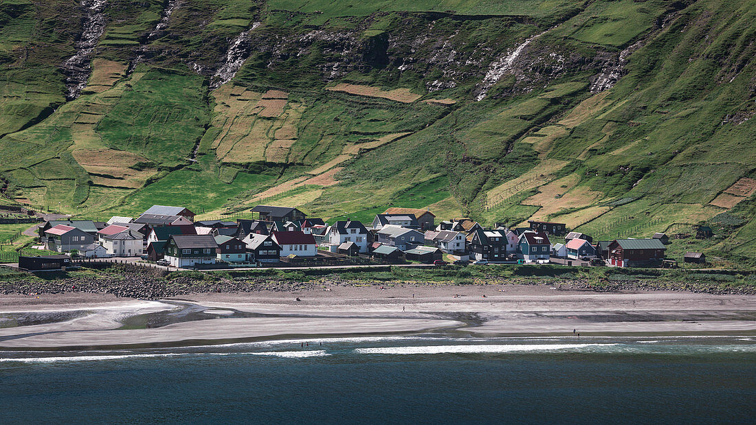
[[[371,285],[198,293],[159,301],[107,294],[0,297],[0,348],[8,350],[428,331],[481,337],[756,334],[756,296],[549,285]]]

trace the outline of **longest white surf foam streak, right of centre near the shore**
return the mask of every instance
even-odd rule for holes
[[[518,351],[575,350],[589,346],[614,346],[618,344],[507,344],[507,345],[435,345],[435,346],[381,346],[357,348],[361,354],[442,354],[442,353],[513,353]]]

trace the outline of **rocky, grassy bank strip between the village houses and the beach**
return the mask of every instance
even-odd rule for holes
[[[192,292],[302,291],[341,286],[553,285],[593,291],[693,291],[756,294],[756,270],[617,269],[574,266],[466,266],[166,272],[104,265],[36,275],[0,269],[0,293],[107,292],[155,298]]]

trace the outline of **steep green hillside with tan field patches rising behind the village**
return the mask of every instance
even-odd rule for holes
[[[6,199],[69,214],[390,205],[756,258],[756,3],[0,2]],[[230,82],[214,89],[226,76]],[[717,236],[692,238],[708,223]]]

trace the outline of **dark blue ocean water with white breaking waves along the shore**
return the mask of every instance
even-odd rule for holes
[[[0,352],[0,422],[754,423],[756,337]]]

